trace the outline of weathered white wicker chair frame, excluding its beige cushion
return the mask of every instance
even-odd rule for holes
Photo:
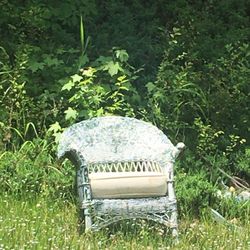
[[[69,127],[60,139],[58,157],[70,159],[77,168],[77,189],[85,231],[99,230],[123,219],[143,218],[170,227],[172,235],[177,236],[173,165],[183,148],[183,143],[174,147],[155,126],[134,118],[100,117]],[[147,168],[145,162],[156,162],[160,166],[167,176],[165,196],[122,199],[93,197],[90,172],[126,171],[126,166],[137,166],[136,162],[143,166],[139,171],[143,171],[145,166]]]

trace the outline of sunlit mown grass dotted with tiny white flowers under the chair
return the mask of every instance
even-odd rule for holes
[[[182,220],[180,241],[158,224],[117,223],[98,233],[79,234],[74,201],[36,197],[0,200],[0,249],[250,249],[250,223],[230,229],[208,219]]]

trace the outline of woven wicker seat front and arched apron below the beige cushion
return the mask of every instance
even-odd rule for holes
[[[177,227],[177,221],[171,220],[171,215],[176,212],[176,204],[167,197],[96,200],[94,208],[92,229],[96,231],[113,222],[133,218],[153,220],[170,228]]]

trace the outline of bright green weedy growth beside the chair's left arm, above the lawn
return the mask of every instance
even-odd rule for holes
[[[16,152],[0,155],[1,193],[18,197],[63,197],[74,193],[75,171],[72,165],[58,166],[46,140],[26,141]]]

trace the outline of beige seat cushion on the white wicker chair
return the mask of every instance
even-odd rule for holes
[[[157,172],[102,172],[89,175],[93,198],[164,196],[167,177]]]

